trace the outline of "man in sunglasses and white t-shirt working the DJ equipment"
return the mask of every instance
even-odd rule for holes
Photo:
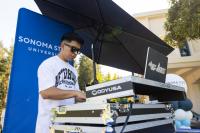
[[[60,53],[39,66],[36,133],[49,133],[50,111],[53,107],[85,101],[85,94],[79,91],[77,71],[68,63],[75,59],[83,42],[75,33],[64,34]]]

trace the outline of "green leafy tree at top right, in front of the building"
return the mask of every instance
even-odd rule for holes
[[[200,0],[171,0],[165,23],[165,41],[181,46],[186,40],[200,38]]]

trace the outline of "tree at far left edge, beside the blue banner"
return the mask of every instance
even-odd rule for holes
[[[13,57],[13,46],[10,49],[3,47],[0,42],[0,115],[6,105],[6,96],[10,76],[10,68]]]

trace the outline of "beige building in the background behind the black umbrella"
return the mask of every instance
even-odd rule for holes
[[[164,23],[167,18],[167,9],[134,14],[146,28],[161,39],[166,31]],[[181,76],[187,83],[187,97],[193,103],[193,111],[200,114],[200,40],[188,41],[183,48],[175,48],[168,56],[167,73]]]

